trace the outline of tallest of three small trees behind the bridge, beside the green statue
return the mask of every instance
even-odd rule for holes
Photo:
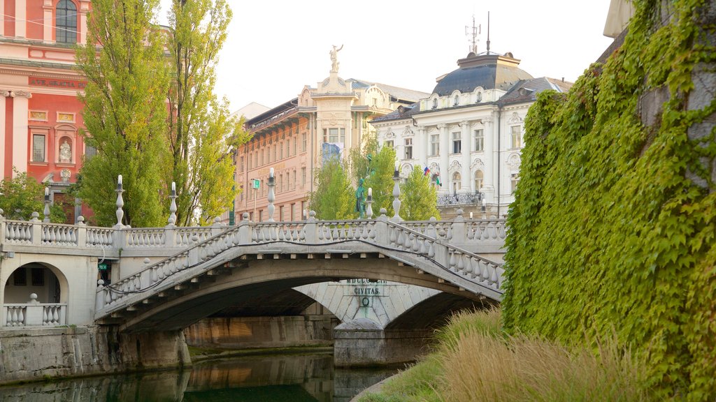
[[[363,187],[373,189],[373,214],[380,208],[393,215],[393,171],[395,170],[395,149],[380,147],[374,135],[367,138],[362,149],[351,149],[351,167],[354,182],[363,179]]]

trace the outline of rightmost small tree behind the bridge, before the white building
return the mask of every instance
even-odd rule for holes
[[[429,220],[430,217],[440,219],[437,190],[430,184],[430,177],[423,174],[420,165],[415,165],[400,186],[400,200],[400,217],[405,220]]]

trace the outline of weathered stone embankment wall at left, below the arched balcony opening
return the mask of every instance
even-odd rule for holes
[[[190,364],[180,331],[120,334],[96,326],[0,331],[0,383]]]

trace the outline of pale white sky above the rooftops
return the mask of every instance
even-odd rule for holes
[[[238,1],[217,67],[216,93],[231,110],[257,102],[276,107],[304,85],[329,75],[329,51],[339,77],[432,92],[435,79],[458,68],[481,26],[485,52],[512,52],[533,77],[574,82],[611,44],[602,35],[609,0],[500,1]],[[170,0],[161,0],[166,24]]]

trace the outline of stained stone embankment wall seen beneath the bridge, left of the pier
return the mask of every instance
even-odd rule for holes
[[[333,345],[334,315],[205,318],[184,330],[198,348],[290,348]]]

